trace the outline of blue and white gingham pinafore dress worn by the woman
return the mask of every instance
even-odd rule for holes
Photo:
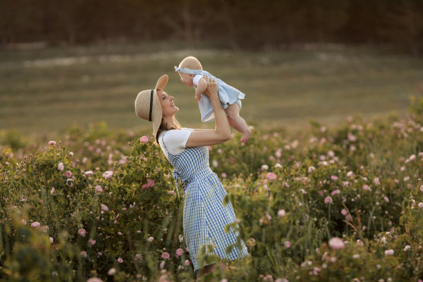
[[[231,252],[226,253],[229,245],[236,244],[239,234],[233,228],[225,233],[225,225],[234,223],[236,217],[230,202],[223,205],[226,191],[216,173],[209,167],[209,150],[207,147],[190,147],[173,155],[167,151],[163,140],[167,132],[161,133],[159,139],[164,145],[164,155],[174,168],[176,185],[180,179],[185,191],[182,225],[194,271],[204,266],[198,265],[196,257],[202,245],[213,245],[213,251],[207,254],[216,254],[223,260],[232,261],[246,256],[247,247],[242,240],[241,250],[234,247]]]

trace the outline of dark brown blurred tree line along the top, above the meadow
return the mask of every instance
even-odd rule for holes
[[[423,46],[423,0],[0,0],[1,46],[183,39],[233,48]]]

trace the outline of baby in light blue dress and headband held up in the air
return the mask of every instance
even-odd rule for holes
[[[219,99],[226,111],[227,120],[229,125],[237,131],[243,133],[241,142],[247,142],[250,137],[251,130],[248,128],[245,120],[239,116],[239,110],[241,109],[241,99],[244,99],[245,94],[238,89],[225,84],[221,79],[214,77],[207,71],[203,71],[200,61],[196,57],[186,57],[182,59],[179,66],[175,66],[175,71],[180,76],[180,81],[187,86],[193,86],[196,89],[196,100],[200,107],[201,121],[212,122],[214,121],[214,111],[212,103],[209,98],[203,94],[205,88],[207,88],[207,80],[204,78],[212,77],[216,79],[218,84]]]

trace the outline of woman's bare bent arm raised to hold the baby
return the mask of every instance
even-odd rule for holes
[[[207,79],[209,78],[207,77]],[[204,94],[207,95],[207,97],[210,99],[210,102],[212,102],[214,118],[216,119],[216,127],[214,130],[210,129],[207,131],[193,131],[191,135],[189,135],[185,147],[215,145],[231,139],[229,122],[227,122],[225,110],[223,109],[222,104],[220,104],[218,97],[218,87],[214,79],[209,80]]]

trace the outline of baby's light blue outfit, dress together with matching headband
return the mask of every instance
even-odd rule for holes
[[[239,109],[241,109],[241,99],[244,99],[245,94],[239,91],[238,89],[226,84],[223,82],[222,79],[219,79],[215,77],[214,75],[211,75],[207,71],[203,70],[192,70],[191,68],[178,68],[175,66],[175,71],[178,71],[180,73],[187,73],[189,75],[204,75],[207,77],[212,77],[216,79],[216,82],[218,84],[218,95],[220,103],[223,106],[223,109],[227,109],[228,104],[238,104]],[[210,102],[209,97],[207,97],[204,94],[201,94],[201,100],[198,102],[198,107],[200,108],[201,113],[201,121],[202,122],[212,122],[214,121],[214,111],[212,102]]]

